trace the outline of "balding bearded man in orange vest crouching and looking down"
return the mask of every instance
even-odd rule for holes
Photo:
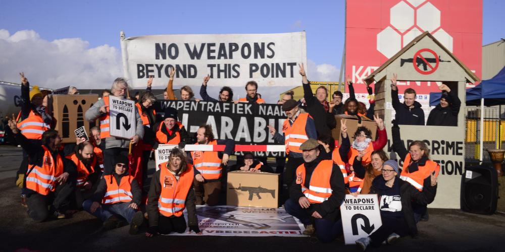
[[[98,179],[102,172],[98,169],[93,145],[82,142],[75,146],[75,151],[66,158],[72,160],[77,167],[77,183],[75,190],[75,202],[80,209],[84,200],[91,198],[98,185]]]

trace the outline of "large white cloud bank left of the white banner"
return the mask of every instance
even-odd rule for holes
[[[31,85],[105,89],[123,75],[117,48],[89,48],[80,38],[47,41],[33,30],[10,35],[0,29],[0,55],[0,80],[8,82],[19,83],[18,73],[24,72]]]

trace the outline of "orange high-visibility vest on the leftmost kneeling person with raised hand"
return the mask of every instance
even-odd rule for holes
[[[63,160],[60,154],[57,154],[55,161],[51,151],[43,145],[42,148],[44,149],[42,166],[35,165],[26,176],[26,188],[41,195],[48,195],[49,192],[55,191],[55,179],[63,174]]]

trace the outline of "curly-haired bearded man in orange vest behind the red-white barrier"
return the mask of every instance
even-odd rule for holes
[[[196,141],[196,145],[226,145],[224,151],[192,151],[190,157],[190,163],[205,179],[203,182],[197,178],[193,181],[196,205],[203,205],[205,201],[211,207],[216,206],[221,191],[223,166],[228,164],[228,159],[235,149],[235,142],[233,139],[216,140],[212,127],[208,124],[201,125],[196,131]]]

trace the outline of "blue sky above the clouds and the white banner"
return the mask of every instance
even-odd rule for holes
[[[455,0],[456,1],[456,0]],[[505,38],[505,1],[484,0],[483,44]],[[79,44],[80,53],[97,48],[100,58],[115,64],[112,57],[120,51],[119,32],[124,30],[127,37],[151,34],[218,34],[218,33],[281,33],[306,30],[307,56],[311,60],[315,74],[320,79],[335,79],[341,65],[344,41],[345,2],[338,1],[5,1],[0,15],[0,31],[12,36],[18,31],[33,30],[18,36],[34,37],[42,42],[76,38],[63,43]],[[2,34],[0,34],[1,38]],[[38,36],[38,37],[37,37]],[[104,46],[109,45],[109,46]],[[1,46],[1,44],[0,44]],[[34,46],[26,53],[37,54],[43,45]],[[1,49],[0,49],[1,51]],[[13,49],[10,49],[13,51]],[[23,53],[20,50],[19,53]],[[4,54],[6,54],[4,52]],[[9,54],[9,53],[7,53]],[[12,53],[11,53],[12,54]],[[115,56],[112,56],[115,54]],[[76,54],[79,55],[79,54]],[[43,56],[41,54],[41,56]],[[13,57],[16,57],[14,55]],[[36,57],[24,61],[39,60]],[[67,59],[62,59],[67,60]],[[84,59],[93,64],[92,58]],[[46,62],[45,65],[47,65]],[[60,68],[73,62],[66,62]],[[1,61],[0,61],[1,64]],[[0,80],[17,81],[15,69],[23,68],[28,62],[21,62],[2,73]],[[37,71],[46,66],[33,67]],[[51,63],[48,63],[51,65]],[[106,67],[104,64],[104,68]],[[311,66],[311,63],[309,63]],[[58,65],[55,65],[58,68]],[[321,67],[321,68],[320,68]],[[86,66],[82,67],[87,69]],[[23,68],[27,69],[27,68]],[[315,73],[314,71],[320,73]],[[96,70],[96,69],[95,69]],[[51,71],[51,69],[45,69]],[[73,70],[67,69],[65,73]],[[111,70],[114,74],[120,71]],[[13,74],[14,72],[14,74]],[[62,71],[63,72],[63,71]],[[92,72],[89,70],[88,72]],[[87,72],[86,72],[87,73]],[[70,74],[63,77],[52,76],[43,84],[72,79]],[[319,76],[322,75],[322,76]],[[43,74],[36,77],[45,78]],[[96,76],[100,76],[97,74]],[[12,80],[15,78],[14,80]],[[105,77],[104,77],[105,78]]]

